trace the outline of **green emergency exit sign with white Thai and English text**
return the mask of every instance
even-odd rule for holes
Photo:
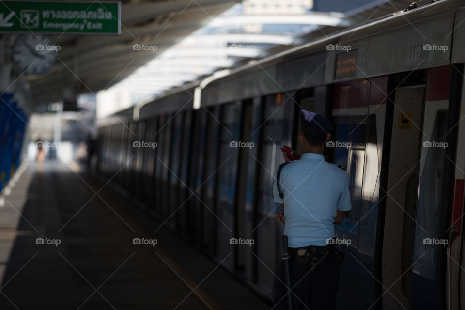
[[[121,2],[0,1],[0,32],[121,34]]]

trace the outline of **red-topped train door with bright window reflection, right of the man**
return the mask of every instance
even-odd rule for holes
[[[335,234],[345,244],[338,305],[371,309],[378,284],[378,204],[388,77],[345,81],[334,86],[332,121],[336,129],[326,144],[328,161],[345,167],[350,177],[352,210]],[[315,108],[321,100],[315,89]],[[323,96],[325,97],[325,96]],[[333,158],[331,160],[331,158]]]

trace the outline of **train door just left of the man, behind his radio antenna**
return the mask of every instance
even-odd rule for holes
[[[268,138],[273,137],[281,144],[291,145],[292,125],[294,122],[294,98],[287,94],[277,93],[263,97],[262,121],[259,128],[252,132],[260,135],[260,156],[254,160],[258,165],[257,186],[257,218],[252,229],[255,233],[256,283],[264,294],[273,296],[275,273],[281,259],[281,236],[283,225],[276,219],[281,208],[273,200],[273,181],[275,169],[284,161],[281,150]]]

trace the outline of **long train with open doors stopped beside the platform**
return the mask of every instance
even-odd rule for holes
[[[171,90],[99,120],[97,170],[271,300],[268,136],[301,152],[299,112],[317,112],[350,176],[339,309],[465,309],[464,20],[465,1],[433,1]]]

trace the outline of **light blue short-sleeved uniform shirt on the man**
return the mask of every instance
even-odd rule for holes
[[[335,236],[336,210],[352,209],[347,172],[327,163],[321,154],[304,153],[281,169],[279,182],[284,199],[279,197],[276,179],[273,197],[284,203],[289,247],[325,246]]]

